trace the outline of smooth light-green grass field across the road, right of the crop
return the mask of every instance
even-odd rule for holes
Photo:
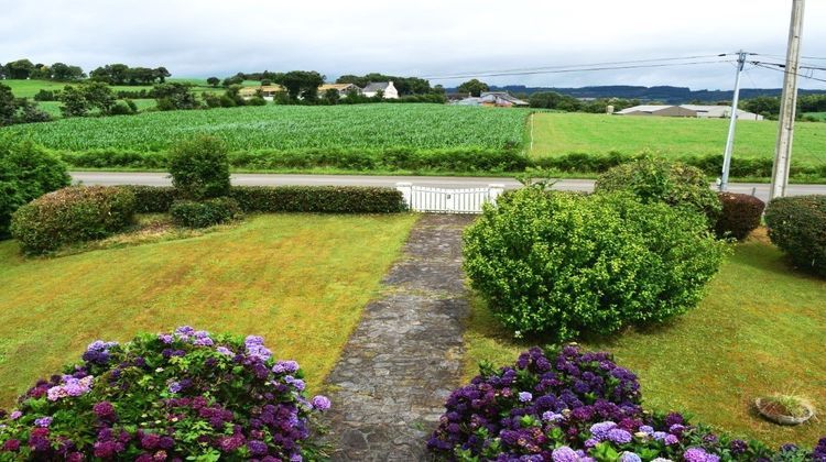
[[[666,156],[721,154],[727,134],[728,120],[722,119],[535,113],[532,155],[644,150]],[[776,135],[775,121],[739,121],[733,155],[771,158]],[[793,155],[795,162],[826,164],[826,123],[796,123]]]

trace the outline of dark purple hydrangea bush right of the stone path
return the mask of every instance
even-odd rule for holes
[[[608,353],[568,345],[553,356],[534,348],[513,366],[482,365],[454,391],[427,446],[450,461],[826,461],[826,438],[813,452],[772,451],[640,403],[637,376]]]

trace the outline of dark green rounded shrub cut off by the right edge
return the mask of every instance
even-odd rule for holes
[[[826,196],[774,199],[765,209],[765,224],[774,245],[796,266],[826,277]]]

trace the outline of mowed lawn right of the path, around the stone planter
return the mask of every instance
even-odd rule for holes
[[[541,339],[515,342],[476,299],[466,333],[466,378],[488,359],[513,363]],[[826,419],[798,427],[767,422],[753,399],[774,392],[807,396],[826,411],[826,280],[790,268],[781,253],[758,241],[739,244],[700,306],[670,324],[611,339],[580,340],[611,351],[637,373],[644,404],[683,410],[717,429],[770,444],[816,444]]]

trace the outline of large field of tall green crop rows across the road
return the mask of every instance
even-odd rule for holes
[[[54,150],[164,151],[207,133],[233,151],[504,150],[523,143],[526,111],[444,105],[275,106],[146,112],[13,125]]]

